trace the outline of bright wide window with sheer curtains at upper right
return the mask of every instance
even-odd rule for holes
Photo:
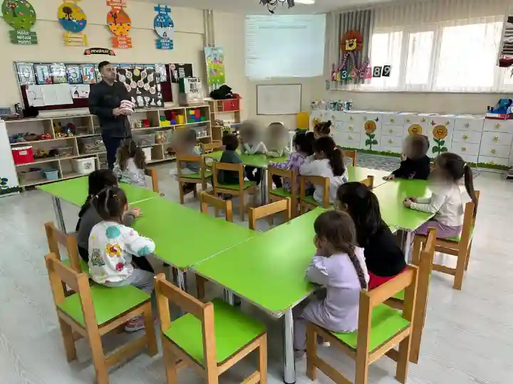
[[[362,89],[432,92],[513,90],[512,71],[497,67],[503,16],[468,21],[462,25],[455,23],[375,31],[371,41],[371,65],[392,65],[392,71],[390,78],[373,78]]]

